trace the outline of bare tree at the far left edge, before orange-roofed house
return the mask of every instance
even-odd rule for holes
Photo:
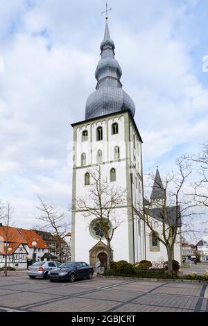
[[[0,211],[0,221],[3,224],[2,230],[3,230],[3,242],[5,242],[5,263],[4,263],[4,275],[7,276],[7,263],[8,263],[8,245],[9,242],[12,241],[11,235],[10,235],[10,226],[13,225],[12,222],[12,214],[15,212],[15,209],[12,207],[10,202],[6,202],[6,205],[1,205],[1,211]],[[9,256],[10,259],[10,256]]]

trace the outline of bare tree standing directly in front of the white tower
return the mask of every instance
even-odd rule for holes
[[[115,187],[114,182],[111,185],[107,182],[107,178],[102,179],[99,168],[90,169],[88,173],[90,185],[87,188],[87,196],[77,198],[76,203],[73,203],[73,209],[77,212],[83,212],[85,218],[98,221],[107,241],[107,268],[110,268],[110,261],[112,261],[111,241],[115,230],[123,222],[116,215],[115,209],[118,206],[126,205],[126,190]]]

